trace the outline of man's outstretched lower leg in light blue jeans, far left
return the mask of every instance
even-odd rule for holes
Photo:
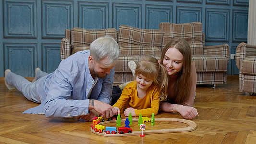
[[[28,100],[40,103],[41,99],[37,92],[37,83],[31,83],[24,77],[6,70],[5,82],[19,90]]]

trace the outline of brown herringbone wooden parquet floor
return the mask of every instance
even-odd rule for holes
[[[210,85],[197,86],[194,107],[199,116],[192,120],[197,128],[191,132],[103,137],[90,132],[91,122],[22,114],[37,105],[20,92],[7,90],[0,78],[0,143],[256,144],[256,96],[238,91],[238,76],[228,76],[227,84],[219,84],[215,89]],[[161,112],[155,118],[182,117],[179,113]],[[133,122],[133,131],[139,131],[137,124]],[[146,130],[187,126],[179,122],[145,124]]]

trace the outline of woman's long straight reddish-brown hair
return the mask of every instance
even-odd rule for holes
[[[174,84],[172,95],[174,99],[168,99],[169,102],[181,104],[188,98],[191,89],[191,50],[188,42],[181,38],[172,39],[165,45],[160,63],[163,64],[164,56],[169,48],[176,48],[183,55],[183,67],[176,73],[177,81]]]

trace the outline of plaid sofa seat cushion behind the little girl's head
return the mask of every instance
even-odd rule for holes
[[[149,56],[154,57],[157,60],[161,58],[161,55],[127,55],[127,54],[119,55],[115,65],[115,72],[132,72],[128,67],[129,61],[138,62],[142,58],[149,57]]]

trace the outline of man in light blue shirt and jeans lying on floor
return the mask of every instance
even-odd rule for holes
[[[17,88],[28,100],[41,103],[24,113],[92,121],[96,116],[93,109],[108,118],[117,113],[109,104],[118,57],[118,44],[107,35],[93,41],[90,51],[80,51],[62,60],[51,74],[37,68],[35,82],[6,70],[5,85],[8,89]]]

